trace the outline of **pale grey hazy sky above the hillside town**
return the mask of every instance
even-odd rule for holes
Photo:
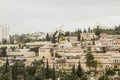
[[[10,33],[50,32],[120,24],[120,0],[0,0],[0,25]]]

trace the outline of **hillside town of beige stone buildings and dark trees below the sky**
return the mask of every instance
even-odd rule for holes
[[[0,80],[120,80],[120,26],[2,34]]]

